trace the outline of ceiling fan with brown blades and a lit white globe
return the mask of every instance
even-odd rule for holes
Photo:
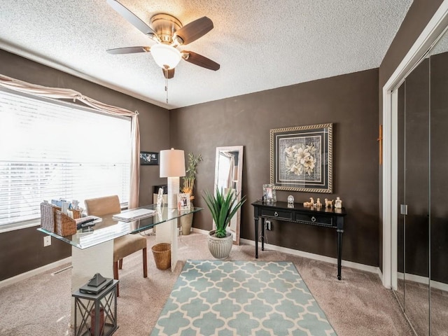
[[[151,18],[150,25],[140,20],[134,13],[117,0],[106,0],[131,25],[139,29],[156,42],[153,46],[136,46],[106,50],[110,54],[131,54],[134,52],[151,52],[155,62],[162,68],[165,78],[174,77],[174,68],[181,59],[205,69],[218,70],[220,65],[211,59],[193,51],[177,49],[187,45],[207,34],[213,29],[213,22],[207,16],[194,20],[183,26],[181,22],[169,14],[156,14]]]

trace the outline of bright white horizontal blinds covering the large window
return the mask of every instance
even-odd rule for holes
[[[0,90],[0,229],[43,200],[130,194],[131,120]]]

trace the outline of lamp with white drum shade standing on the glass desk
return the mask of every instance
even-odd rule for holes
[[[179,149],[160,151],[160,177],[168,178],[168,209],[177,208],[179,177],[185,176],[185,155]]]

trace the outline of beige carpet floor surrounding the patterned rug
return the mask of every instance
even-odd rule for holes
[[[148,237],[148,278],[143,277],[141,252],[124,260],[118,297],[119,328],[114,335],[149,335],[185,260],[213,259],[207,236],[193,233],[179,240],[181,261],[175,271],[161,271],[155,267],[149,248],[153,244],[155,237]],[[254,249],[233,246],[230,260],[255,260]],[[336,265],[327,262],[276,251],[260,251],[259,257],[294,262],[337,335],[413,335],[393,293],[381,286],[377,274],[342,267],[342,281],[338,281]],[[73,334],[69,328],[71,271],[55,276],[51,272],[0,289],[1,336]]]

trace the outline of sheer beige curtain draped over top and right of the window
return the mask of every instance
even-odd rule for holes
[[[45,87],[10,78],[0,74],[0,86],[6,87],[9,90],[32,94],[38,97],[46,97],[52,99],[72,99],[73,102],[77,100],[83,104],[90,106],[92,109],[109,113],[114,116],[127,116],[132,118],[132,151],[131,151],[131,167],[130,167],[130,197],[128,207],[134,208],[139,206],[139,183],[140,183],[140,132],[139,132],[139,113],[132,112],[127,109],[122,109],[117,106],[111,106],[98,102],[95,99],[86,97],[80,92],[71,89],[64,89],[60,87]]]

